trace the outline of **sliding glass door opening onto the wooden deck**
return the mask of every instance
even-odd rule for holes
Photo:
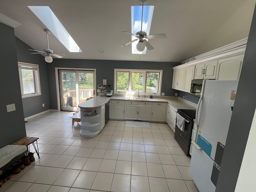
[[[59,70],[60,109],[79,111],[78,104],[94,97],[95,71]]]

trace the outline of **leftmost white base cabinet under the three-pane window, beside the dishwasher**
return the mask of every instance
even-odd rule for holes
[[[123,100],[111,100],[111,118],[112,119],[124,119],[124,101]]]

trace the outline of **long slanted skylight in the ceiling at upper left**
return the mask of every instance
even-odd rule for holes
[[[28,6],[70,52],[82,52],[48,6]]]

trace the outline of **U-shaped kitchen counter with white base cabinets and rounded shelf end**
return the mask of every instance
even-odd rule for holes
[[[172,130],[177,109],[196,109],[196,104],[178,97],[134,98],[97,96],[78,105],[80,134],[86,138],[97,136],[105,126],[105,104],[110,101],[110,119],[167,122]],[[139,110],[143,112],[140,113]],[[173,115],[170,114],[172,110]],[[143,115],[143,116],[140,116]],[[170,116],[170,118],[169,118]],[[169,123],[170,122],[170,123]]]

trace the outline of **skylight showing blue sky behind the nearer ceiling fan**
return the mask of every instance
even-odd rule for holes
[[[150,26],[153,16],[154,6],[144,6],[143,7],[143,21],[142,21],[142,31],[149,34]],[[136,34],[136,32],[141,29],[141,14],[142,14],[142,6],[131,6],[132,12],[132,33]],[[135,36],[132,36],[132,40],[136,39]],[[146,54],[146,48],[142,52],[138,52],[136,49],[136,45],[139,41],[132,43],[132,54]]]

